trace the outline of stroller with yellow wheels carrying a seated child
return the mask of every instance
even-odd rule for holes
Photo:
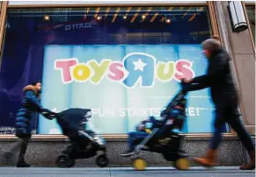
[[[185,84],[182,83],[182,90],[161,112],[161,120],[150,117],[151,126],[145,126],[145,131],[149,135],[143,139],[135,139],[135,150],[128,157],[133,160],[133,166],[136,170],[144,170],[147,166],[146,160],[139,157],[141,151],[162,153],[164,158],[171,161],[173,166],[179,170],[189,168],[187,152],[181,150],[184,137],[173,131],[174,129],[181,131],[185,122],[187,105],[185,96],[187,91],[184,87]]]

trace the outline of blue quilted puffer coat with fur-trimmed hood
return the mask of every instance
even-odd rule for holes
[[[48,111],[41,107],[38,93],[32,85],[23,88],[24,98],[16,116],[16,136],[31,136],[31,120],[34,112]]]

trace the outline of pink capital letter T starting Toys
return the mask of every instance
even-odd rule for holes
[[[70,67],[77,65],[77,59],[55,60],[55,70],[61,70],[63,83],[72,81]]]

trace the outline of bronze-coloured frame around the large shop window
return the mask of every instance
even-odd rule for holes
[[[106,7],[106,6],[112,6],[112,7],[128,7],[128,6],[142,6],[142,7],[154,7],[154,6],[205,6],[208,7],[208,15],[210,20],[210,29],[212,31],[213,35],[219,35],[219,30],[217,26],[216,21],[216,11],[215,11],[215,5],[212,1],[207,1],[206,3],[182,3],[182,4],[31,4],[31,5],[8,5],[8,2],[2,2],[1,5],[1,17],[0,18],[0,47],[3,48],[4,46],[4,26],[5,26],[5,18],[8,8],[49,8],[49,7],[55,7],[55,8],[69,8],[69,7]],[[3,14],[3,15],[2,15]],[[1,35],[3,34],[3,35]],[[1,58],[0,58],[0,68],[1,68],[1,60],[2,60],[2,54],[3,50],[1,50]],[[211,137],[212,133],[183,133],[182,135],[185,135],[186,137],[200,137],[200,138],[209,138]],[[223,133],[224,137],[234,137],[235,133],[234,131],[230,131],[227,133]],[[128,134],[104,134],[102,135],[104,138],[128,138]],[[0,139],[12,139],[16,138],[15,135],[0,135]],[[34,134],[33,138],[36,139],[49,139],[49,138],[55,138],[60,140],[67,139],[64,135],[48,135],[48,134]]]

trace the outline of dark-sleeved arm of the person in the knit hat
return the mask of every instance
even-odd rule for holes
[[[212,66],[210,67],[208,74],[194,77],[192,83],[208,85],[211,80],[215,80],[217,77],[222,76],[223,68],[228,61],[228,55],[225,53],[218,54],[214,59],[212,59]]]

